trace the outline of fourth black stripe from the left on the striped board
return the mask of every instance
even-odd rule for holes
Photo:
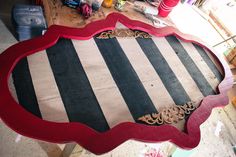
[[[174,100],[175,104],[183,105],[190,101],[190,98],[183,86],[175,76],[165,58],[152,39],[137,38],[137,42],[147,56],[148,60],[161,78],[164,86]]]

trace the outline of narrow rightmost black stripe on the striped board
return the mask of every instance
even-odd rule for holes
[[[198,53],[201,55],[201,57],[203,58],[203,60],[206,62],[206,64],[208,65],[208,67],[211,69],[211,71],[214,73],[214,75],[216,76],[217,80],[219,82],[221,82],[223,80],[223,75],[220,73],[220,71],[217,69],[216,65],[213,63],[213,61],[211,60],[211,58],[208,56],[207,52],[200,46],[198,46],[197,44],[193,43],[193,46],[196,48],[196,50],[198,51]]]

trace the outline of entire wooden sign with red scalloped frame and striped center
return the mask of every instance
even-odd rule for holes
[[[113,13],[11,46],[0,55],[0,84],[10,128],[102,154],[129,139],[196,147],[200,125],[228,103],[232,78],[199,39]]]

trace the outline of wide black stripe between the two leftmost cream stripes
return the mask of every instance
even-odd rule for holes
[[[97,131],[109,129],[100,105],[69,39],[59,39],[47,49],[55,80],[69,120],[81,122]]]

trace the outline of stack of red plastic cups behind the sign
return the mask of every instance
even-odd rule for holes
[[[161,17],[167,17],[179,1],[180,0],[162,0],[158,7],[158,15]]]

